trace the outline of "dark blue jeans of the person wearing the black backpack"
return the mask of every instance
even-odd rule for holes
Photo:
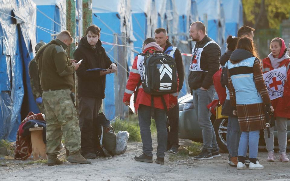
[[[151,138],[151,107],[140,104],[138,108],[138,119],[140,134],[143,143],[143,153],[152,157],[152,138]],[[154,120],[157,129],[157,157],[164,157],[167,147],[166,112],[162,109],[154,108]]]

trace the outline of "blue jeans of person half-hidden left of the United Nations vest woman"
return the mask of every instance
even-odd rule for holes
[[[227,149],[231,157],[238,156],[241,132],[238,117],[231,115],[227,119]]]

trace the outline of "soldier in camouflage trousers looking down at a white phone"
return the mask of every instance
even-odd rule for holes
[[[65,52],[71,43],[70,33],[63,31],[47,46],[42,46],[36,54],[47,122],[46,151],[49,166],[63,163],[57,159],[62,135],[70,153],[69,162],[91,163],[79,153],[81,132],[76,108],[70,95],[75,86],[73,74],[79,68],[79,64],[69,59]]]

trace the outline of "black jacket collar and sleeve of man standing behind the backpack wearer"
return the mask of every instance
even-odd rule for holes
[[[165,52],[169,46],[173,46],[173,45],[168,40],[166,40],[166,46],[164,47],[163,52]],[[179,79],[178,91],[180,92],[183,86],[183,81],[184,81],[184,68],[183,68],[182,56],[178,48],[174,52],[174,58],[175,58],[176,69],[178,73],[178,79]]]

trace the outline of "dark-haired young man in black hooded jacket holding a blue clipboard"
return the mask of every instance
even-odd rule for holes
[[[77,61],[83,60],[76,71],[79,94],[79,127],[81,129],[82,154],[87,159],[96,158],[92,143],[93,120],[97,118],[105,98],[106,75],[117,71],[102,47],[100,28],[91,25],[82,37],[74,53]],[[103,68],[106,71],[86,71],[92,68]]]

